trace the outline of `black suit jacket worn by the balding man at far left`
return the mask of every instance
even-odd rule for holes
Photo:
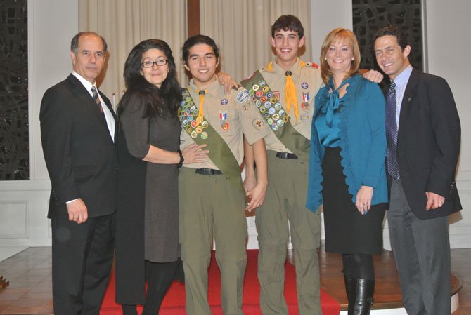
[[[100,94],[112,111],[111,103]],[[49,218],[67,218],[66,201],[82,198],[89,217],[115,212],[117,153],[103,114],[72,74],[44,93],[39,114],[51,178]],[[115,139],[117,138],[117,125]]]

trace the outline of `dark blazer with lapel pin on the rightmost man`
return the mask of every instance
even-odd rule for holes
[[[455,184],[460,138],[460,119],[448,83],[413,69],[401,105],[397,158],[406,199],[420,219],[461,210]],[[444,205],[425,210],[425,192],[444,196]]]

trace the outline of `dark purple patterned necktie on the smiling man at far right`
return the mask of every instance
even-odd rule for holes
[[[387,136],[387,173],[399,180],[397,163],[397,122],[396,122],[396,83],[391,80],[391,86],[386,98],[386,136]]]

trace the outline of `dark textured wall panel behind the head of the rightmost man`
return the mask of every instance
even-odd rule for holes
[[[396,25],[411,43],[409,60],[423,69],[422,5],[420,0],[352,0],[353,31],[359,41],[361,69],[379,69],[373,53],[373,35],[381,27]]]

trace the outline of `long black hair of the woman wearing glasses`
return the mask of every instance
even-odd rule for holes
[[[142,55],[153,48],[162,51],[168,60],[169,73],[160,88],[149,83],[141,74]],[[127,57],[126,63],[124,63],[124,83],[126,83],[127,91],[118,105],[118,116],[123,112],[124,106],[126,106],[131,95],[138,95],[138,98],[146,106],[143,118],[176,116],[176,111],[181,102],[181,88],[179,81],[176,79],[172,49],[166,42],[160,39],[146,39],[134,46]]]

